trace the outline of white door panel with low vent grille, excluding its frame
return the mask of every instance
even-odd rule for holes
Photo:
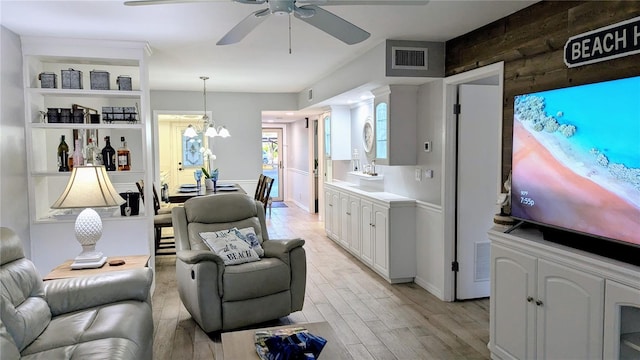
[[[487,230],[500,186],[501,95],[495,85],[460,85],[457,131],[456,298],[489,296]]]

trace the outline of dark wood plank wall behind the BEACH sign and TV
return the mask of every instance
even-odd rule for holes
[[[502,177],[511,171],[515,95],[640,75],[640,54],[567,68],[571,36],[640,16],[640,1],[542,1],[446,43],[446,76],[504,61]]]

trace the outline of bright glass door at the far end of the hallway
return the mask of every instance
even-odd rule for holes
[[[271,187],[273,201],[283,201],[284,199],[283,150],[282,129],[263,128],[262,174],[273,178],[273,186]]]

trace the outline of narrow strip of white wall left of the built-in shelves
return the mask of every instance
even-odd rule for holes
[[[20,236],[30,258],[21,43],[4,26],[0,36],[0,225]]]

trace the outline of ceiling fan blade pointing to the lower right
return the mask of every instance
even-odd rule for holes
[[[317,27],[318,29],[326,32],[327,34],[335,37],[338,40],[341,40],[346,44],[357,44],[368,39],[369,36],[371,36],[371,34],[353,25],[347,20],[318,6],[306,5],[301,6],[300,9],[314,10],[315,15],[311,17],[301,17],[296,12],[295,16],[298,19],[306,22],[309,25]]]

